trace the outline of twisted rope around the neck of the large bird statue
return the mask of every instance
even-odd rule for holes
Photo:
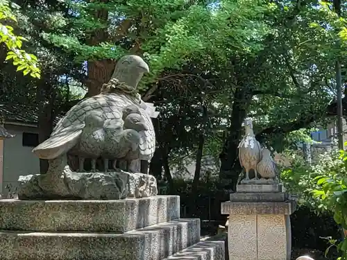
[[[111,78],[108,83],[103,84],[101,87],[100,94],[108,93],[127,94],[131,99],[135,99],[135,103],[141,103],[141,96],[137,89],[120,82],[117,78]]]

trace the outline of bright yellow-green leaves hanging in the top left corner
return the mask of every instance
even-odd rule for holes
[[[10,10],[10,3],[6,0],[0,1],[0,21],[3,19],[12,19],[17,21],[15,15]],[[5,26],[0,23],[0,42],[6,44],[8,53],[6,60],[12,60],[17,66],[17,71],[23,71],[24,75],[30,73],[33,78],[40,78],[40,69],[37,67],[37,58],[35,55],[28,54],[22,50],[24,37],[17,36],[13,33],[11,26]]]

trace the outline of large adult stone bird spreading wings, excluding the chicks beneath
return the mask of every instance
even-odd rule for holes
[[[102,114],[103,120],[122,119],[121,110],[133,106],[139,111],[146,129],[139,132],[139,159],[150,161],[155,150],[155,132],[149,114],[142,108],[144,103],[137,94],[137,84],[149,67],[137,55],[126,55],[115,67],[112,79],[105,84],[101,94],[85,98],[67,112],[53,129],[51,137],[33,149],[41,159],[56,159],[65,155],[78,144],[85,128],[85,118],[90,112]],[[130,109],[129,112],[131,112]],[[126,112],[128,113],[128,112]],[[107,140],[106,140],[107,141]]]

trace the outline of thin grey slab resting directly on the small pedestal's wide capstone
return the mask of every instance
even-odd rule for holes
[[[285,193],[230,193],[232,202],[279,202],[285,199]]]

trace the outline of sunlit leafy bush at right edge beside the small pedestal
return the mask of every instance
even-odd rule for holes
[[[331,212],[335,222],[347,229],[346,170],[347,152],[335,150],[320,155],[312,165],[294,157],[291,168],[284,169],[281,178],[289,192],[298,194],[300,205],[306,205],[319,214]],[[329,242],[330,248],[337,246],[341,255],[339,259],[347,259],[346,239],[330,238]]]

